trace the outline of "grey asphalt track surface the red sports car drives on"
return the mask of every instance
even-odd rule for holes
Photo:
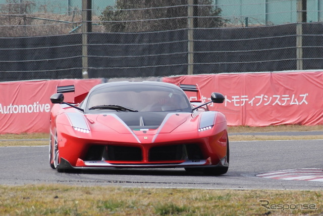
[[[48,147],[0,147],[0,184],[113,185],[227,189],[321,190],[322,182],[287,181],[255,175],[285,169],[323,167],[323,140],[230,143],[226,175],[212,177],[177,169],[111,169],[59,173],[48,164]]]

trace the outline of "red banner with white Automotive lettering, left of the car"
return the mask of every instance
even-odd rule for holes
[[[0,82],[0,134],[49,133],[50,96],[58,86],[75,85],[66,101],[89,91],[101,79]]]

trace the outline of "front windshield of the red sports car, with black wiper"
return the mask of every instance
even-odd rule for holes
[[[156,85],[120,85],[98,89],[89,95],[87,112],[192,112],[185,93]]]

